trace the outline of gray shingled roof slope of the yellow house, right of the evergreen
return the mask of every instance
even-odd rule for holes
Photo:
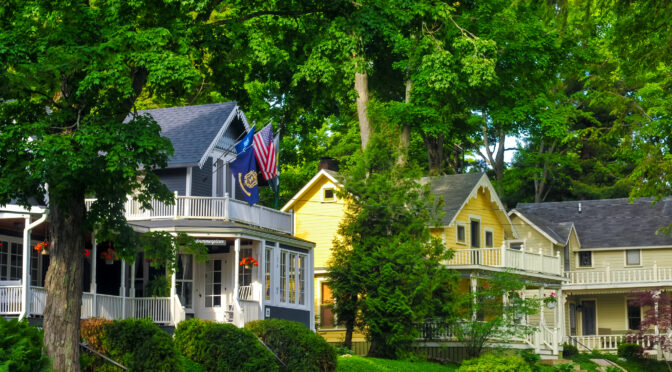
[[[483,173],[451,174],[440,177],[423,177],[420,183],[426,184],[431,180],[430,189],[436,196],[443,197],[443,211],[441,222],[450,224],[453,217],[460,211],[471,190],[476,187]]]

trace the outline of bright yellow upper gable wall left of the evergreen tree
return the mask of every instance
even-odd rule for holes
[[[322,202],[322,188],[338,189],[327,177],[320,177],[313,187],[300,195],[294,206],[296,236],[315,242],[314,266],[323,269],[331,255],[331,247],[337,235],[338,225],[344,216],[344,205],[336,202]]]

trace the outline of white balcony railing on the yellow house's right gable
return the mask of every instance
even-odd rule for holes
[[[453,258],[448,261],[448,265],[458,267],[470,265],[493,266],[533,273],[562,275],[560,255],[546,255],[541,250],[539,253],[535,253],[505,247],[456,249]]]

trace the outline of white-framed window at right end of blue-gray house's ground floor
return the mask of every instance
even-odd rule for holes
[[[306,304],[306,265],[308,255],[280,250],[280,301]]]

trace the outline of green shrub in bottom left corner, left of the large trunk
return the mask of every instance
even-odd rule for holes
[[[49,359],[42,352],[43,334],[27,320],[0,316],[0,371],[47,371]]]

